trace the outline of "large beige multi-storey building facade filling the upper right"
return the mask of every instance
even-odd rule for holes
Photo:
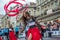
[[[36,0],[37,1],[37,10],[39,11],[39,18],[38,19],[42,19],[47,21],[52,20],[53,18],[57,18],[60,14],[59,14],[59,10],[60,10],[60,0]],[[54,16],[54,13],[57,13]],[[50,16],[51,17],[48,17]],[[52,17],[53,15],[53,17]]]

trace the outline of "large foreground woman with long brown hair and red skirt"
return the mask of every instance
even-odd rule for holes
[[[40,33],[39,27],[37,26],[39,24],[35,18],[30,16],[29,12],[25,12],[23,14],[23,20],[25,26],[28,28],[26,31],[27,40],[41,40],[42,35]]]

